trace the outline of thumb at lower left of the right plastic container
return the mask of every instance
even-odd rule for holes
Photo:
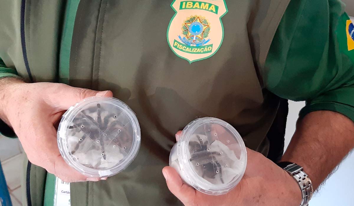
[[[172,194],[181,200],[184,205],[194,205],[193,203],[196,196],[195,189],[184,183],[173,167],[164,167],[162,174]]]

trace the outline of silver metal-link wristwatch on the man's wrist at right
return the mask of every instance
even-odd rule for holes
[[[303,171],[303,168],[295,163],[282,161],[277,164],[279,167],[287,171],[299,184],[302,194],[300,206],[308,206],[313,194],[312,182],[308,175]]]

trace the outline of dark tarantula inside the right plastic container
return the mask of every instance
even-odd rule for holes
[[[205,159],[212,159],[212,161],[207,162],[207,163],[202,163],[201,166],[203,168],[203,173],[202,173],[202,178],[205,176],[211,179],[216,178],[216,175],[214,173],[214,169],[216,169],[216,173],[220,174],[220,181],[221,183],[224,183],[223,177],[222,177],[222,167],[219,161],[217,161],[217,156],[221,155],[220,152],[209,152],[210,148],[207,146],[207,141],[203,141],[202,137],[200,135],[196,135],[198,137],[199,141],[189,141],[189,150],[193,151],[194,153],[190,154],[190,159],[189,161],[196,161],[196,165],[199,166],[199,162],[203,162]],[[215,140],[213,141],[215,142]],[[210,145],[212,145],[212,143]],[[202,155],[200,155],[199,152],[205,151]]]

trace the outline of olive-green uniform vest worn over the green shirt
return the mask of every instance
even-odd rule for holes
[[[208,2],[213,1],[222,0]],[[279,98],[264,88],[262,68],[288,3],[225,1],[228,12],[221,18],[224,33],[218,51],[191,63],[176,55],[166,40],[175,15],[171,1],[81,0],[69,84],[112,90],[137,114],[142,144],[133,163],[118,175],[107,181],[71,184],[71,204],[181,204],[167,189],[161,169],[168,165],[175,133],[198,117],[227,121],[247,147],[267,155],[266,135]],[[13,64],[29,80],[55,81],[64,4],[60,0],[23,0],[22,6],[24,29],[18,44],[28,62],[23,64],[18,58]],[[184,19],[198,15],[195,9],[180,9]],[[213,30],[218,25],[210,27],[210,33],[222,33]],[[19,55],[18,51],[13,55]],[[35,165],[29,170],[32,204],[40,205],[45,172]]]

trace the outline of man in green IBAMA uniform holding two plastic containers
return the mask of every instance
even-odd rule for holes
[[[13,0],[0,8],[1,133],[18,136],[29,159],[28,205],[53,205],[55,176],[75,182],[75,206],[306,205],[354,148],[354,26],[339,0]],[[65,164],[54,126],[95,95],[126,102],[142,130],[133,163],[101,181]],[[282,98],[307,101],[284,156]],[[245,176],[226,195],[199,193],[162,170],[176,132],[204,116],[232,124],[250,148]],[[308,176],[289,175],[282,167],[293,164],[273,163],[280,158]]]

